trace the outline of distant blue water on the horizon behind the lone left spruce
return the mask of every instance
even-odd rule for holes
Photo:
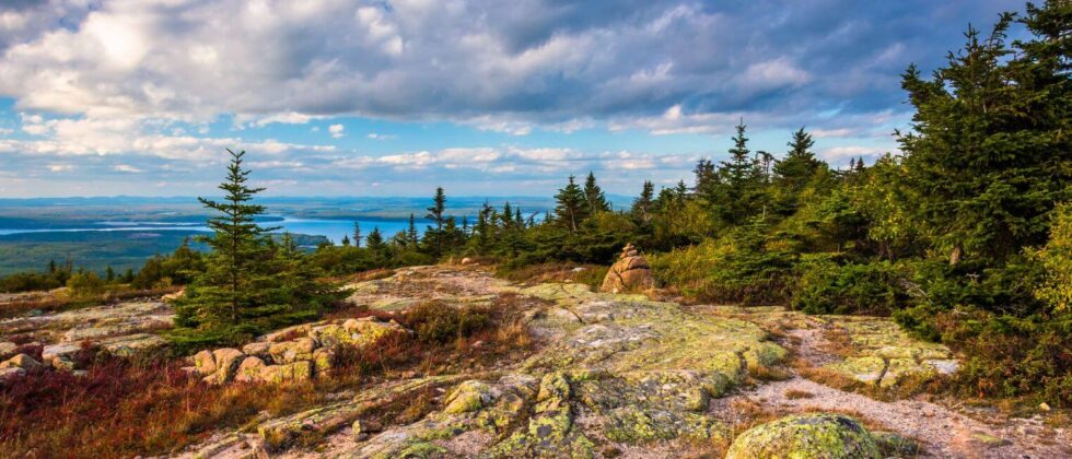
[[[368,236],[372,228],[378,227],[384,238],[391,238],[399,231],[409,227],[408,220],[357,220],[361,226],[361,234]],[[282,221],[266,222],[261,226],[281,226],[278,233],[307,234],[311,236],[325,236],[335,244],[342,242],[342,236],[349,235],[353,238],[353,220],[323,220],[323,219],[295,219],[284,216]],[[168,229],[193,229],[209,231],[202,224],[196,223],[147,223],[147,222],[101,222],[106,227],[95,228],[65,228],[65,229],[0,229],[0,236],[20,233],[72,233],[83,231],[168,231]],[[427,223],[417,222],[417,231],[424,232]]]

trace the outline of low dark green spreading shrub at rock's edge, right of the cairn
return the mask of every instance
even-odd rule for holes
[[[888,315],[908,299],[897,286],[901,273],[888,261],[839,264],[813,256],[796,271],[791,306],[807,314]]]

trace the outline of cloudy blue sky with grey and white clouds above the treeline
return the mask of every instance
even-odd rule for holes
[[[1019,0],[4,0],[0,198],[549,196],[691,180],[743,121],[897,152],[929,72]]]

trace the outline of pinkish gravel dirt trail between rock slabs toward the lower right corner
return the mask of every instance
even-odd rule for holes
[[[812,366],[839,360],[829,353],[822,325],[790,330],[784,343]],[[808,396],[809,395],[809,396]],[[803,397],[802,397],[803,396]],[[712,403],[712,410],[733,416],[735,404],[757,403],[778,414],[807,411],[853,413],[883,428],[919,440],[920,457],[954,458],[1072,458],[1069,428],[1050,428],[1039,419],[1007,419],[999,414],[986,420],[969,416],[943,404],[909,399],[885,402],[846,392],[793,375],[790,379],[762,384]]]

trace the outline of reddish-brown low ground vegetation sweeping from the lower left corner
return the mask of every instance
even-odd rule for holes
[[[503,297],[488,313],[486,327],[447,341],[409,333],[388,337],[361,351],[339,350],[333,376],[311,384],[209,386],[180,369],[177,360],[138,362],[96,349],[79,353],[88,373],[34,370],[0,386],[0,444],[12,457],[132,457],[177,451],[221,428],[244,425],[263,411],[272,416],[307,409],[329,393],[361,390],[378,381],[493,367],[533,345],[512,314],[515,297]],[[433,308],[453,308],[439,304]],[[443,311],[445,309],[439,309]],[[365,308],[345,317],[416,320]],[[462,315],[470,314],[463,309]],[[39,355],[38,355],[39,356]],[[384,413],[385,420],[419,417],[432,393]]]

